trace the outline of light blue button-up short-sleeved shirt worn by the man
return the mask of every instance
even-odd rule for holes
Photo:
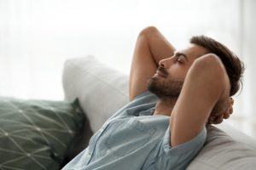
[[[205,143],[206,127],[194,139],[170,146],[170,116],[152,116],[157,97],[146,91],[117,111],[63,170],[185,169]]]

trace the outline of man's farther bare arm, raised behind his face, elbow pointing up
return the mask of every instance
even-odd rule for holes
[[[159,61],[172,56],[174,50],[172,44],[154,26],[140,32],[131,61],[130,100],[147,90],[148,79],[153,77]]]

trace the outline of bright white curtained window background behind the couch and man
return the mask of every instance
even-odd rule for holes
[[[146,26],[177,48],[205,34],[247,67],[230,123],[256,137],[255,9],[254,0],[0,0],[0,95],[63,99],[64,61],[87,54],[129,74]]]

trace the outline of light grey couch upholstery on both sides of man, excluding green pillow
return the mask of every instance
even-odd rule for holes
[[[93,132],[129,102],[128,86],[127,75],[109,68],[93,56],[69,59],[65,63],[63,87],[66,99],[79,98]],[[226,122],[220,128],[234,138],[218,127],[207,127],[207,143],[188,169],[255,169],[256,141]]]

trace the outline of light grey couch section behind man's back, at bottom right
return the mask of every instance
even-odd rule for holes
[[[235,130],[234,130],[235,131]],[[242,136],[241,136],[242,137]],[[250,139],[243,136],[242,140]],[[253,145],[231,138],[218,127],[207,127],[207,142],[195,160],[187,168],[196,169],[255,169],[256,150]]]

